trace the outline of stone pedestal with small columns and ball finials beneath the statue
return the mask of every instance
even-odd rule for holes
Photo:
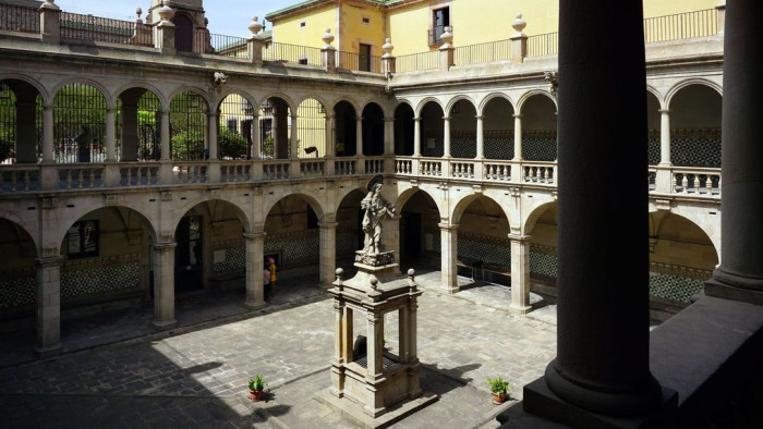
[[[337,341],[331,388],[318,399],[344,415],[354,414],[356,421],[366,427],[389,425],[437,400],[421,389],[416,301],[422,291],[413,270],[409,270],[408,278],[396,275],[398,265],[393,261],[392,252],[359,252],[355,277],[343,281],[343,271],[338,269],[335,287],[329,290],[337,316]],[[365,315],[364,340],[354,340],[353,311]],[[399,320],[397,354],[384,347],[384,315],[392,311],[398,312]]]

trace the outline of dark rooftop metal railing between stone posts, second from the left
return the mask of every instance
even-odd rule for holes
[[[133,36],[134,22],[61,12],[62,38],[132,45]]]

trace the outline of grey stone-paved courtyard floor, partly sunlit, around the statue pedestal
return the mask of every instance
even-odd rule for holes
[[[495,428],[495,415],[556,355],[555,306],[533,295],[537,309],[511,315],[508,287],[460,279],[463,290],[448,295],[436,287],[439,274],[416,277],[425,291],[417,312],[422,384],[439,400],[392,427]],[[47,359],[32,354],[28,320],[4,322],[0,426],[356,428],[315,400],[330,384],[330,295],[305,279],[278,287],[256,311],[243,307],[241,291],[181,296],[179,326],[165,332],[152,328],[149,305],[65,311],[64,351]],[[385,326],[395,347],[397,323]],[[258,403],[246,392],[255,373],[269,383]],[[512,401],[500,406],[486,383],[497,376],[513,387]]]

